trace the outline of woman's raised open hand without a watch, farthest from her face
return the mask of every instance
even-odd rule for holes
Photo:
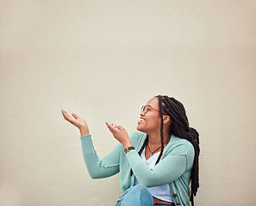
[[[81,136],[89,135],[89,128],[84,118],[80,118],[77,114],[72,113],[72,116],[69,116],[65,110],[61,110],[63,117],[66,121],[74,124],[80,130]]]

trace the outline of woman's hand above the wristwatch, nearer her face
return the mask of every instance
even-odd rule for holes
[[[117,126],[116,124],[114,125],[109,124],[106,122],[107,126],[109,127],[109,130],[113,134],[113,136],[116,138],[118,142],[122,143],[122,146],[124,148],[132,147],[132,142],[129,139],[127,131],[122,127],[122,126]]]

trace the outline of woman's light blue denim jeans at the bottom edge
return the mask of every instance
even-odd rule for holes
[[[170,204],[153,204],[153,197],[147,186],[135,185],[129,188],[116,203],[116,206],[170,206]]]

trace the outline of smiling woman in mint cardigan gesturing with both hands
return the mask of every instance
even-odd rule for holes
[[[106,123],[120,143],[100,160],[83,118],[62,110],[81,133],[84,162],[92,179],[120,173],[119,205],[194,205],[198,183],[199,138],[190,128],[184,106],[156,96],[141,107],[136,132]],[[191,181],[191,188],[190,188]]]

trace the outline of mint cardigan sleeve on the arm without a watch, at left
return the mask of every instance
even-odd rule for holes
[[[93,147],[91,135],[81,136],[84,163],[92,179],[103,179],[119,173],[120,152],[118,144],[102,160]]]

